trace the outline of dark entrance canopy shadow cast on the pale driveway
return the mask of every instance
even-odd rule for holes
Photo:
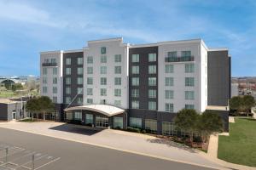
[[[56,127],[50,127],[51,130],[61,131],[61,132],[68,132],[68,133],[77,133],[77,134],[84,134],[87,136],[100,133],[103,128],[93,128],[93,127],[85,127],[82,125],[73,125],[73,124],[62,124]]]

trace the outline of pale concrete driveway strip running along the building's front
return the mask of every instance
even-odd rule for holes
[[[170,161],[222,168],[201,151],[190,149],[187,146],[183,146],[183,144],[157,139],[140,133],[129,133],[113,129],[99,131],[63,122],[1,122],[0,127],[84,144],[93,144]]]

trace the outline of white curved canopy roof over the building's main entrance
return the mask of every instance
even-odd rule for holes
[[[125,112],[125,110],[122,110],[118,107],[114,107],[113,105],[79,105],[79,106],[64,109],[64,111],[77,111],[77,110],[96,111],[96,112],[102,113],[105,116],[115,116]]]

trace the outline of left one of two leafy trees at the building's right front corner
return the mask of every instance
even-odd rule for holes
[[[175,126],[189,133],[191,144],[193,144],[193,133],[197,130],[198,116],[199,114],[194,109],[183,109],[178,111],[174,118]]]

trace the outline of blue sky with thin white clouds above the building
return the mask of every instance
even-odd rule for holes
[[[0,75],[39,75],[39,52],[124,37],[146,43],[201,37],[229,48],[232,76],[256,76],[254,0],[0,0]]]

